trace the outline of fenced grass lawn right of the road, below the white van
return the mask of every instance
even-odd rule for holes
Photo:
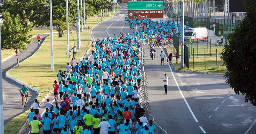
[[[204,70],[204,48],[205,48],[205,70]],[[217,64],[216,64],[216,48],[217,48]],[[202,72],[212,72],[212,73],[225,73],[227,71],[226,67],[223,66],[223,61],[220,59],[220,53],[222,52],[223,47],[212,47],[211,48],[211,56],[210,56],[210,48],[208,48],[207,54],[207,47],[198,47],[198,58],[197,58],[197,48],[194,47],[194,69],[193,69],[193,46],[192,46],[192,54],[190,50],[190,58],[189,61],[189,68],[185,66],[185,69],[180,69],[181,63],[179,61],[176,64],[175,53],[176,50],[173,47],[172,55],[172,63],[174,64],[177,70],[189,70],[189,71],[202,71]],[[168,54],[170,54],[171,49],[166,48]],[[181,55],[181,47],[179,48],[179,53]],[[180,59],[179,59],[180,60]],[[218,71],[217,71],[218,65]]]

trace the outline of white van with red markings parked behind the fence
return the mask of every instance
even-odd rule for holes
[[[206,41],[208,38],[208,33],[206,27],[198,27],[198,28],[189,28],[184,33],[184,39],[189,40],[191,37],[193,41]]]

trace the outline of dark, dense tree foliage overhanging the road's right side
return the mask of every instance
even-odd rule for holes
[[[243,0],[246,15],[234,33],[228,35],[221,59],[226,65],[226,83],[236,94],[245,95],[245,102],[256,106],[256,1]],[[246,30],[245,30],[246,29]]]

